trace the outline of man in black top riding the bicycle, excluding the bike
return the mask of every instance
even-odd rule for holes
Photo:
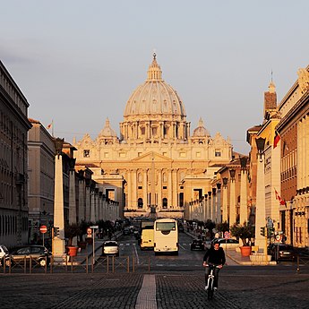
[[[223,267],[223,265],[226,263],[226,254],[224,253],[223,248],[220,248],[219,242],[214,242],[213,245],[210,246],[210,249],[205,253],[202,266],[205,267],[205,282],[206,286],[205,289],[207,290],[207,282],[208,282],[208,276],[210,275],[210,267],[209,265],[216,265],[218,267],[214,270],[214,282],[213,287],[216,291],[218,289],[218,279],[219,279],[219,270]]]

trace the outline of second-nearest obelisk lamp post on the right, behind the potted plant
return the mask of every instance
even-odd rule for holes
[[[240,210],[239,210],[239,223],[244,224],[248,222],[248,207],[247,207],[247,159],[240,158],[241,171],[240,171]]]

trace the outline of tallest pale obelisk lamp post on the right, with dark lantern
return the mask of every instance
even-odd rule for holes
[[[264,176],[264,138],[255,140],[257,147],[257,176],[256,176],[256,210],[255,210],[255,245],[262,248],[267,262],[267,240],[261,235],[261,227],[265,227],[265,176]]]

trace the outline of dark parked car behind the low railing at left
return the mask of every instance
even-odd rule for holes
[[[39,263],[40,266],[45,267],[50,262],[51,253],[48,251],[47,247],[43,245],[28,245],[18,249],[9,255],[6,259],[6,264],[22,264],[25,260],[26,262]]]

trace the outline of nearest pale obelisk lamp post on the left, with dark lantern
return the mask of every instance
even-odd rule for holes
[[[64,256],[64,173],[62,147],[64,139],[55,141],[55,195],[54,195],[54,227],[59,228],[59,235],[53,239],[53,254]]]

